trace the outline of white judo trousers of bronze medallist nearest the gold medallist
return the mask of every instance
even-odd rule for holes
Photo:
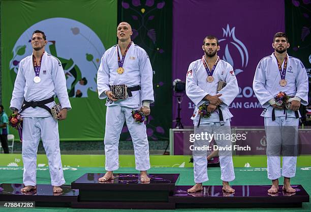
[[[201,134],[207,132],[208,134],[230,134],[230,120],[227,119],[225,121],[225,125],[221,126],[219,122],[212,123],[201,123],[199,127],[197,127],[198,122],[195,121],[195,134]],[[220,138],[220,137],[219,137]],[[200,143],[197,143],[200,142]],[[194,142],[194,146],[208,146],[209,141],[207,140],[199,140]],[[217,140],[215,139],[215,143],[219,147],[231,147],[231,140]],[[207,176],[207,151],[206,150],[197,150],[193,151],[193,159],[194,159],[194,180],[196,183],[202,183],[208,180]],[[221,167],[221,179],[223,181],[232,181],[235,179],[234,167],[232,161],[232,151],[231,150],[220,150],[219,151],[219,160]]]

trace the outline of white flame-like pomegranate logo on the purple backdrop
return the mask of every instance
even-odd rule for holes
[[[226,30],[223,28],[223,38],[219,42],[222,42],[222,48],[225,46],[223,56],[220,57],[235,68],[235,75],[243,72],[248,63],[248,51],[242,41],[235,37],[235,27],[230,29],[227,24]]]

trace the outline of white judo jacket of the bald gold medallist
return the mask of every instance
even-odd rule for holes
[[[118,45],[114,45],[105,51],[101,59],[101,65],[97,75],[98,95],[100,99],[107,98],[105,91],[110,91],[111,85],[126,84],[128,87],[140,86],[140,91],[133,91],[132,97],[119,99],[112,103],[107,99],[106,105],[120,105],[131,108],[138,108],[143,100],[154,101],[152,86],[152,67],[147,52],[132,42],[123,63],[124,72],[117,73],[119,51],[120,59],[122,54]]]

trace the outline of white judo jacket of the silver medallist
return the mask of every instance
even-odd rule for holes
[[[12,93],[10,109],[20,110],[23,100],[41,101],[57,95],[62,108],[71,110],[69,101],[66,77],[60,61],[45,51],[42,57],[40,69],[40,83],[34,82],[36,76],[33,66],[33,54],[20,61],[16,76],[14,90]],[[46,104],[52,108],[55,102]],[[23,117],[49,117],[51,114],[43,108],[25,109],[21,115]]]

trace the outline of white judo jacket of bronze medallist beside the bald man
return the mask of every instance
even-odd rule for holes
[[[194,114],[191,117],[194,121],[198,121],[200,115],[198,114],[198,107],[203,104],[209,104],[209,101],[203,98],[209,95],[217,94],[217,85],[219,81],[224,81],[227,86],[223,88],[218,94],[223,94],[219,98],[223,101],[220,105],[223,113],[224,121],[233,117],[228,106],[238,95],[239,88],[232,66],[226,61],[220,60],[213,72],[213,82],[206,81],[208,77],[207,71],[201,59],[192,62],[186,74],[186,94],[195,103],[196,107]],[[219,115],[214,112],[209,118],[202,118],[201,123],[204,122],[219,122]]]

